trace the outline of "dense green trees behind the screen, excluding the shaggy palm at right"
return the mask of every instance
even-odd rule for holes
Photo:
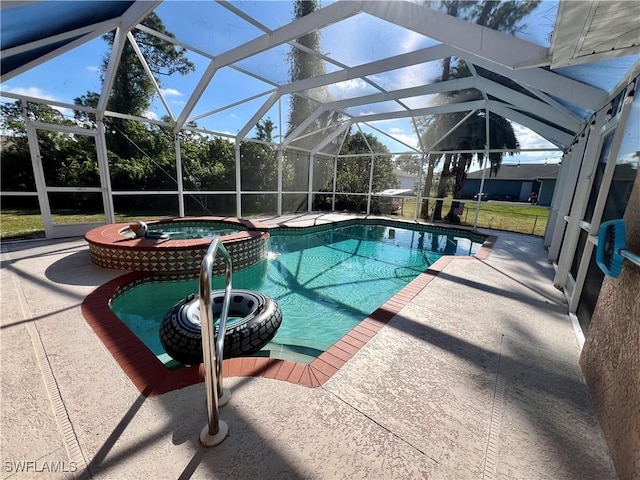
[[[307,2],[299,2],[304,6],[297,15],[307,12]],[[164,35],[172,36],[155,14],[149,15],[143,24]],[[135,30],[133,36],[147,60],[156,82],[162,85],[162,78],[174,73],[186,74],[194,69],[185,49],[164,42],[146,32]],[[314,37],[314,34],[311,34]],[[114,34],[104,36],[104,40],[112,45]],[[304,43],[304,39],[302,39]],[[317,37],[314,41],[317,41]],[[309,42],[307,42],[309,43]],[[313,42],[312,42],[313,43]],[[296,53],[291,55],[292,80],[304,78],[314,72],[312,66],[306,66],[296,60]],[[307,62],[308,63],[308,62]],[[100,71],[102,81],[105,80],[108,58],[102,60]],[[155,87],[147,76],[142,64],[127,42],[117,69],[114,85],[109,94],[107,109],[142,117],[151,107]],[[298,97],[296,97],[298,98]],[[87,92],[75,99],[74,103],[83,107],[97,107],[99,94]],[[301,99],[304,100],[304,99]],[[306,100],[304,100],[306,101]],[[302,101],[291,104],[289,131],[293,130],[306,115]],[[0,127],[11,136],[3,145],[1,163],[1,187],[3,191],[34,191],[35,181],[31,168],[29,144],[26,137],[25,119],[20,102],[5,103],[1,106],[2,117]],[[65,118],[58,110],[46,105],[29,103],[28,115],[31,120],[39,120],[53,125],[84,126],[95,128],[95,116],[83,110],[74,111],[74,118]],[[169,121],[169,118],[163,120]],[[329,121],[326,118],[320,122]],[[191,127],[196,127],[194,123]],[[177,172],[174,135],[170,129],[152,124],[126,120],[117,117],[104,119],[107,156],[110,169],[110,181],[115,191],[142,190],[176,190]],[[240,177],[242,190],[252,192],[273,192],[278,186],[278,150],[273,145],[276,126],[269,119],[256,125],[255,140],[243,141],[240,145]],[[369,142],[377,151],[388,152],[377,138],[365,134],[349,132],[343,142],[341,154],[366,153]],[[203,135],[190,130],[182,130],[178,134],[180,142],[182,181],[184,189],[198,191],[235,191],[236,161],[235,145],[224,137]],[[58,133],[49,130],[38,130],[38,143],[42,157],[42,165],[48,186],[99,186],[99,170],[95,153],[95,142],[92,137],[69,133]],[[306,163],[305,163],[306,162]],[[282,169],[283,190],[306,191],[308,188],[308,157],[299,159],[298,155],[285,152]],[[366,192],[369,187],[369,175],[363,176],[358,183],[353,182],[354,175],[351,163],[358,168],[358,162],[344,160],[338,172],[338,185],[348,184],[353,191]],[[361,163],[361,162],[360,162]],[[376,157],[376,178],[374,191],[384,190],[396,185],[393,174],[392,159],[388,153]],[[356,165],[357,164],[357,165]],[[384,172],[382,174],[381,172]],[[328,191],[332,188],[333,171],[328,167],[316,168],[316,188]],[[347,180],[348,179],[348,180]],[[96,207],[101,200],[98,195],[70,194],[66,196],[63,208]],[[154,197],[154,208],[167,210],[177,205],[172,196]],[[7,197],[9,198],[9,197]],[[157,198],[157,200],[156,200]],[[191,195],[192,203],[199,205],[202,213],[217,213],[218,210],[229,211],[235,205],[235,199],[216,197],[215,202],[208,202],[207,195]],[[14,197],[14,201],[23,201],[24,197]],[[274,210],[273,195],[247,196],[247,211],[269,212]],[[245,200],[243,200],[244,202]],[[220,204],[223,203],[223,205]],[[226,202],[226,205],[224,203]],[[6,204],[5,204],[6,205]],[[148,207],[148,199],[144,196],[127,197],[127,207],[141,209]],[[345,208],[354,208],[348,202]],[[292,208],[306,210],[306,203]],[[245,208],[243,208],[245,210]]]

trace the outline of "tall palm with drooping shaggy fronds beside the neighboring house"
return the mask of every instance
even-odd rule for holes
[[[464,18],[467,21],[486,26],[494,30],[514,34],[521,28],[522,20],[531,13],[540,3],[538,0],[530,2],[510,1],[461,1],[461,0],[440,0],[428,2],[432,8],[445,11],[447,14]],[[495,75],[476,67],[478,73],[491,78]],[[442,61],[441,81],[451,78],[460,78],[470,74],[469,67],[463,60],[447,57]],[[481,98],[479,93],[473,90],[449,92],[446,94],[449,103],[462,103]],[[482,150],[486,146],[486,131],[484,128],[485,112],[476,112],[474,116],[458,127],[454,135],[450,135],[442,141],[438,141],[448,131],[451,130],[464,117],[464,113],[454,113],[439,115],[435,118],[426,119],[420,122],[423,127],[422,141],[428,149],[436,147],[438,150],[462,150],[474,149]],[[489,116],[490,126],[490,147],[516,149],[519,144],[516,140],[511,123],[504,118],[491,114]],[[435,145],[438,142],[438,145]],[[431,189],[431,179],[435,165],[442,161],[443,168],[438,185],[438,197],[445,195],[447,185],[453,182],[453,197],[459,198],[460,192],[466,180],[467,173],[474,156],[472,154],[445,154],[429,155],[427,157],[427,181],[425,182],[425,192]],[[483,154],[478,154],[477,159],[481,163]],[[502,163],[502,154],[491,154],[489,162],[492,172],[497,172]],[[427,195],[428,196],[428,195]],[[455,213],[456,203],[452,204],[451,210],[447,214],[447,220],[459,222],[459,217]],[[428,200],[423,202],[422,216],[427,218],[429,214]],[[437,201],[434,218],[442,218],[442,201]]]

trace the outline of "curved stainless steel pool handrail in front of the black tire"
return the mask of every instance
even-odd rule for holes
[[[225,263],[225,288],[218,338],[214,341],[213,309],[211,305],[211,277],[216,254],[220,250]],[[231,391],[222,386],[222,360],[224,332],[227,330],[229,304],[231,302],[232,263],[229,252],[220,242],[213,239],[200,266],[200,319],[202,328],[202,355],[204,359],[204,383],[207,392],[207,425],[200,432],[200,443],[205,447],[215,447],[229,434],[229,426],[220,420],[218,409],[231,399]]]

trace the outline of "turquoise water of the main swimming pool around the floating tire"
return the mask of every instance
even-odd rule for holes
[[[308,363],[442,255],[473,255],[481,241],[373,225],[275,231],[268,260],[234,273],[233,287],[265,293],[282,308],[282,325],[264,354]],[[213,288],[224,288],[222,276]],[[168,363],[158,335],[162,318],[197,291],[197,279],[156,277],[114,298],[111,309]]]

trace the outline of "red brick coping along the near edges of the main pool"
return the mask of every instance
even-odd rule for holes
[[[454,258],[485,259],[495,240],[496,237],[488,237],[475,257],[438,259],[310,364],[268,357],[231,358],[222,363],[223,377],[264,377],[306,387],[323,385]],[[204,381],[204,369],[202,365],[194,365],[169,370],[109,308],[109,300],[120,288],[148,276],[149,272],[132,272],[115,278],[90,293],[81,309],[87,323],[136,388],[145,396],[155,396]]]

